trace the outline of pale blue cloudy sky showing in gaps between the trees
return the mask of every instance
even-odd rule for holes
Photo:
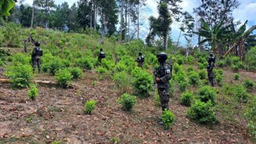
[[[70,6],[73,5],[77,0],[55,0],[56,4],[61,4],[66,1]],[[193,8],[198,7],[201,0],[183,0],[181,3],[181,7],[183,11],[187,11],[192,16],[196,16],[193,14]],[[235,20],[241,20],[244,23],[248,20],[248,26],[253,26],[256,24],[256,0],[238,0],[240,2],[240,6],[238,9],[234,10],[233,16]],[[28,3],[32,5],[33,0],[25,0],[24,3]],[[146,0],[146,7],[142,7],[142,12],[140,15],[140,21],[142,22],[142,26],[140,26],[140,38],[144,39],[149,32],[148,18],[150,16],[158,16],[158,4],[156,0]],[[177,22],[173,22],[171,25],[171,38],[174,42],[179,38],[179,29],[180,24]],[[186,41],[184,37],[181,37],[181,45],[186,45]],[[196,45],[196,37],[192,40],[192,45]]]

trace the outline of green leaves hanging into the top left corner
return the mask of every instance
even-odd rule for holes
[[[10,16],[10,10],[15,6],[15,2],[12,0],[0,1],[0,16]]]

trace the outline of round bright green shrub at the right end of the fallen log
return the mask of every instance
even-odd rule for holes
[[[68,71],[68,69],[59,69],[55,73],[55,79],[58,81],[58,85],[61,86],[62,88],[66,88],[68,84],[70,84],[72,80],[72,73]]]

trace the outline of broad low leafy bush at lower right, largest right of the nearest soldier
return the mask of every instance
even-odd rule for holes
[[[190,119],[197,120],[203,124],[215,124],[215,122],[217,122],[215,107],[213,107],[211,101],[207,101],[207,103],[205,103],[197,100],[188,109],[187,115]]]

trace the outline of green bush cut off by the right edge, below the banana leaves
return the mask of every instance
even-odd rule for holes
[[[256,46],[251,48],[245,56],[245,63],[248,69],[256,70]]]

